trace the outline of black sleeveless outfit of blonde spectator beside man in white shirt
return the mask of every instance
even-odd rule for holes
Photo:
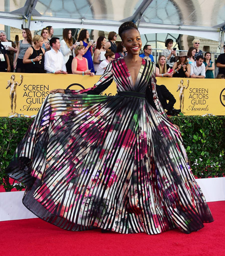
[[[31,46],[32,47],[32,46]],[[35,50],[33,47],[33,53],[29,56],[28,60],[35,59],[37,56],[39,56],[42,53],[42,59],[40,61],[35,61],[34,64],[28,63],[24,64],[25,72],[26,73],[45,73],[44,70],[44,54],[41,50]]]

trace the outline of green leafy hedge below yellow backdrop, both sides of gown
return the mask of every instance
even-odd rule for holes
[[[171,117],[180,127],[183,143],[195,177],[222,177],[225,175],[225,117],[178,116]],[[32,118],[0,118],[0,185],[5,191],[19,184],[10,185],[5,175],[18,142],[24,136]]]

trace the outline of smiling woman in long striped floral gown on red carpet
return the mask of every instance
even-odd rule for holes
[[[198,230],[213,218],[157,98],[155,66],[138,56],[133,23],[119,35],[127,56],[111,61],[92,88],[52,90],[8,174],[26,184],[28,209],[64,229]],[[113,79],[117,95],[98,95]]]

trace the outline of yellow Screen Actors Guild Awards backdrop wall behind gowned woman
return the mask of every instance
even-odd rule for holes
[[[10,116],[13,113],[36,115],[50,90],[65,89],[73,83],[89,88],[99,78],[100,76],[87,75],[0,73],[0,116]],[[157,84],[166,86],[176,99],[174,108],[181,109],[184,115],[225,115],[224,79],[158,77]],[[74,85],[70,89],[77,90],[82,87]],[[115,83],[103,94],[115,95]]]

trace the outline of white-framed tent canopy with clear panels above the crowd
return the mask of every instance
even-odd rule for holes
[[[224,40],[225,0],[4,0],[0,24],[21,29],[117,31],[133,21],[140,34],[176,33]]]

